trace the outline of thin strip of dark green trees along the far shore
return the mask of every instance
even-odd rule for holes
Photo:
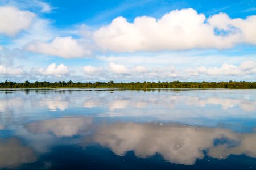
[[[73,87],[129,87],[129,88],[256,88],[256,82],[130,82],[130,83],[114,83],[109,82],[34,82],[28,81],[24,83],[2,82],[0,88],[73,88]]]

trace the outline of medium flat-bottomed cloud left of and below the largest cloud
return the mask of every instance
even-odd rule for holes
[[[26,46],[26,50],[64,58],[83,57],[90,54],[90,50],[87,50],[86,46],[82,46],[77,40],[69,36],[56,37],[49,43],[32,41]]]

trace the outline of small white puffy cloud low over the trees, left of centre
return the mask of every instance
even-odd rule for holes
[[[40,68],[39,73],[43,75],[55,75],[57,77],[60,77],[62,75],[69,74],[69,69],[63,64],[57,66],[55,63],[52,63],[47,67],[47,69]]]

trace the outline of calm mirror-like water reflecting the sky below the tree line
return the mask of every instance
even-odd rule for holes
[[[0,169],[256,169],[256,90],[0,90]]]

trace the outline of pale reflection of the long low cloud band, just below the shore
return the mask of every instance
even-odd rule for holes
[[[195,92],[200,90],[195,90]],[[252,91],[253,92],[253,91]],[[200,94],[195,94],[193,92],[186,93],[181,91],[180,94],[173,94],[170,91],[166,93],[151,93],[141,94],[139,92],[134,93],[121,93],[117,92],[117,95],[106,95],[102,96],[86,96],[84,102],[84,107],[93,108],[101,107],[106,105],[109,107],[109,111],[115,111],[116,109],[125,109],[125,108],[148,108],[154,105],[155,107],[165,107],[165,108],[179,108],[180,105],[187,105],[188,107],[206,107],[207,105],[218,106],[220,105],[222,110],[226,111],[229,108],[239,107],[244,111],[255,111],[256,110],[256,101],[255,99],[245,99],[242,94],[237,96],[220,96],[205,90],[202,94],[206,96],[201,96]],[[102,103],[102,101],[105,101]]]

